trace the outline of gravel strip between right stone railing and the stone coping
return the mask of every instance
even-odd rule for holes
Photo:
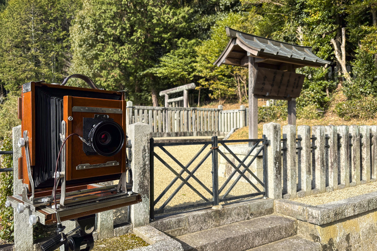
[[[310,195],[303,198],[296,198],[293,201],[309,204],[309,205],[322,205],[333,201],[340,201],[349,197],[362,195],[365,193],[377,191],[377,182],[368,184],[362,184],[356,187],[347,187],[340,190],[335,190],[328,193],[320,193],[316,195]]]

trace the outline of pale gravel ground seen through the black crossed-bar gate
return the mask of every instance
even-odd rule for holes
[[[166,146],[164,147],[167,151],[170,152],[178,161],[180,161],[183,165],[189,163],[189,161],[196,155],[197,152],[202,148],[202,145],[191,145],[191,146]],[[210,151],[210,146],[199,155],[199,157],[191,164],[189,170],[192,171],[196,165],[202,160],[202,158]],[[155,152],[159,155],[164,161],[166,161],[176,172],[180,172],[182,170],[181,167],[178,166],[167,154],[165,154],[162,149],[156,147]],[[194,173],[196,178],[201,181],[208,189],[212,190],[212,155],[209,155],[207,160],[202,164],[201,167]],[[162,164],[156,157],[155,157],[155,172],[154,172],[154,187],[155,187],[155,199],[166,189],[166,187],[170,184],[170,182],[176,177],[176,175],[170,171],[164,164]],[[242,170],[242,169],[241,169]],[[184,172],[182,174],[183,178],[186,178],[188,174]],[[238,176],[238,175],[237,175]],[[225,178],[219,177],[219,188],[224,184]],[[168,190],[167,194],[164,195],[160,201],[155,206],[155,209],[161,207],[161,205],[169,198],[169,196],[175,191],[175,189],[181,184],[181,180],[177,180],[176,183]],[[208,193],[198,182],[196,182],[192,177],[189,179],[189,183],[197,189],[205,198],[208,200],[212,199],[210,193]],[[231,186],[233,181],[230,181],[227,187],[222,191],[220,195],[224,195],[225,191]],[[236,186],[231,190],[229,196],[235,195],[244,195],[248,193],[254,193],[256,190],[248,184],[244,182],[238,182]],[[190,187],[186,184],[179,190],[179,192],[173,197],[173,199],[169,202],[166,208],[169,207],[179,207],[187,204],[192,204],[193,202],[199,203],[204,202],[204,200],[199,197]]]

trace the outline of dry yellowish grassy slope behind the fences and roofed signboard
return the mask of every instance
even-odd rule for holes
[[[343,95],[342,92],[335,93],[333,95],[332,101],[329,105],[328,110],[325,112],[324,116],[320,119],[297,119],[296,124],[297,126],[299,125],[308,125],[308,126],[314,126],[314,125],[377,125],[377,119],[369,119],[369,120],[362,120],[362,119],[352,119],[352,120],[344,120],[337,116],[336,112],[334,111],[335,106],[337,103],[342,102],[346,99],[346,97]],[[258,106],[264,105],[265,102],[263,100],[258,100]],[[248,107],[247,103],[244,103],[246,107]],[[217,104],[209,104],[205,105],[203,107],[217,107]],[[238,109],[239,104],[236,103],[229,103],[229,104],[224,104],[223,109],[224,110],[231,110],[231,109]],[[271,122],[276,122],[279,123],[281,126],[287,125],[287,120],[276,120],[276,121],[271,121]],[[264,123],[259,123],[258,124],[258,138],[262,137],[263,134],[263,124]],[[248,138],[249,132],[248,126],[244,128],[240,128],[236,130],[229,139],[246,139]]]

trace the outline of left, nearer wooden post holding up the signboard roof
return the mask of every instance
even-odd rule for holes
[[[256,79],[257,64],[249,56],[249,138],[258,138],[258,99],[254,97],[253,88]],[[250,142],[249,146],[253,143]]]

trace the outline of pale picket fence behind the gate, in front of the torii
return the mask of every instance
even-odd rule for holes
[[[195,107],[134,106],[127,102],[127,126],[136,122],[150,125],[150,137],[224,136],[232,128],[247,126],[247,108],[236,110]]]

